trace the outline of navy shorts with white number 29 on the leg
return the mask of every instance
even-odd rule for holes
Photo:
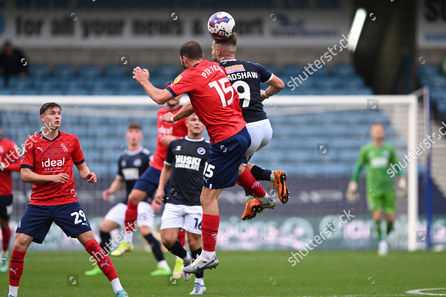
[[[91,231],[90,223],[81,205],[78,202],[73,202],[61,205],[29,204],[16,232],[32,236],[34,237],[33,242],[41,244],[53,222],[68,237],[74,238],[79,234]]]

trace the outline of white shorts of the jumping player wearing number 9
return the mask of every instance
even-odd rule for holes
[[[271,141],[273,128],[266,118],[261,121],[246,124],[246,129],[248,129],[248,133],[251,135],[251,146],[246,151],[246,159],[249,161],[256,151],[259,151]]]

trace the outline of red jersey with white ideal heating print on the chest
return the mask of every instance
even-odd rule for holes
[[[30,204],[60,205],[78,201],[73,163],[79,165],[85,160],[76,135],[59,131],[56,138],[49,140],[37,133],[26,138],[23,150],[20,168],[29,168],[40,175],[70,175],[65,184],[34,183]]]

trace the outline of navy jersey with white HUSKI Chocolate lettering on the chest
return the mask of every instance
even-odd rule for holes
[[[210,148],[211,143],[204,138],[186,136],[169,143],[164,163],[172,166],[172,174],[166,203],[201,205],[203,171]]]

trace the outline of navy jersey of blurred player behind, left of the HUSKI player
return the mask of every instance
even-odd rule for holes
[[[126,195],[123,201],[127,204],[128,195],[133,189],[136,181],[149,167],[149,160],[152,154],[148,149],[140,147],[136,151],[127,151],[119,157],[118,176],[124,180]]]

